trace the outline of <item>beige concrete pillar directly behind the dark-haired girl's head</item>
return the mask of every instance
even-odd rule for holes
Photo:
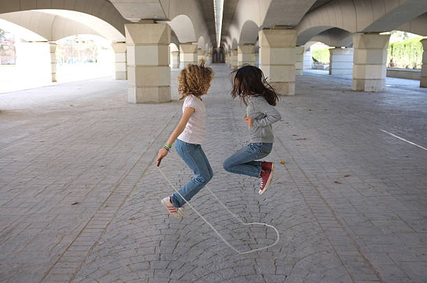
[[[262,29],[260,69],[280,95],[295,95],[295,29]]]

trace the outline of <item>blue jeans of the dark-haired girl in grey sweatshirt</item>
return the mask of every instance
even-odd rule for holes
[[[271,152],[273,144],[248,144],[239,149],[224,162],[224,169],[231,173],[260,177],[261,161],[254,161],[266,157]]]

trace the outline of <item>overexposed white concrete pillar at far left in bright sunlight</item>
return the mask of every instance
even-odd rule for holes
[[[23,80],[57,82],[56,43],[16,43],[15,49],[17,72]]]

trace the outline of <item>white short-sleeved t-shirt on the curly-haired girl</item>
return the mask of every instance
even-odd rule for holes
[[[206,108],[204,102],[195,95],[187,95],[182,105],[182,112],[186,107],[195,109],[190,120],[188,120],[186,128],[183,130],[178,139],[188,144],[204,144],[206,140]]]

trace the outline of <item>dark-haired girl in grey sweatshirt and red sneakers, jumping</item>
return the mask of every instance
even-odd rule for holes
[[[224,162],[226,171],[257,177],[263,194],[273,178],[274,163],[255,161],[265,158],[273,148],[271,124],[280,120],[274,108],[278,95],[267,82],[260,68],[243,66],[232,71],[232,98],[239,97],[246,105],[245,122],[249,127],[250,144],[241,148]]]

